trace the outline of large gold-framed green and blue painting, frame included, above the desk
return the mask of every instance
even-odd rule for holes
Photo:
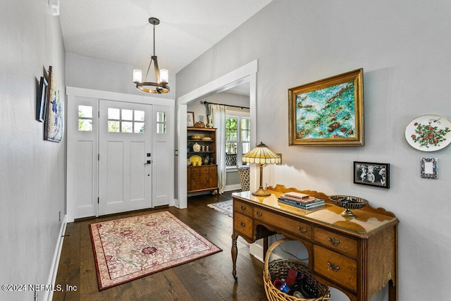
[[[363,146],[362,68],[288,90],[290,145]]]

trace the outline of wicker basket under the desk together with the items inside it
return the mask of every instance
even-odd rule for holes
[[[284,238],[274,242],[271,247],[268,247],[268,251],[265,255],[263,281],[268,300],[330,300],[330,290],[328,286],[319,283],[319,281],[311,275],[309,268],[302,262],[291,259],[277,259],[269,262],[271,252],[278,245],[287,241],[289,240]]]

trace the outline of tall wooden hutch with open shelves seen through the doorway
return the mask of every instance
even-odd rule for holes
[[[192,156],[200,157],[200,165],[187,166],[187,192],[218,190],[216,128],[187,128],[187,161]]]

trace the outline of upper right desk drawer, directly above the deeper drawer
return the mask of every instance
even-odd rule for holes
[[[330,250],[343,252],[352,258],[357,257],[357,240],[321,228],[314,228],[314,238]]]

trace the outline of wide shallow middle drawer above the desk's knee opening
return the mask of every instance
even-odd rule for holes
[[[289,219],[288,217],[273,214],[270,211],[260,208],[254,209],[254,218],[264,221],[269,225],[282,228],[285,231],[290,231],[299,237],[311,239],[311,226],[307,223],[302,223],[300,221],[296,221],[295,219]]]

